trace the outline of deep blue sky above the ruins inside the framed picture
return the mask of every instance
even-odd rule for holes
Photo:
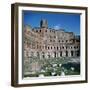
[[[61,28],[80,35],[80,14],[23,11],[24,25],[40,27],[41,19],[48,21],[48,28]]]

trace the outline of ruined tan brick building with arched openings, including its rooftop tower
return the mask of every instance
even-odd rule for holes
[[[63,29],[48,28],[47,20],[40,27],[24,27],[24,57],[57,58],[80,56],[80,36]]]

